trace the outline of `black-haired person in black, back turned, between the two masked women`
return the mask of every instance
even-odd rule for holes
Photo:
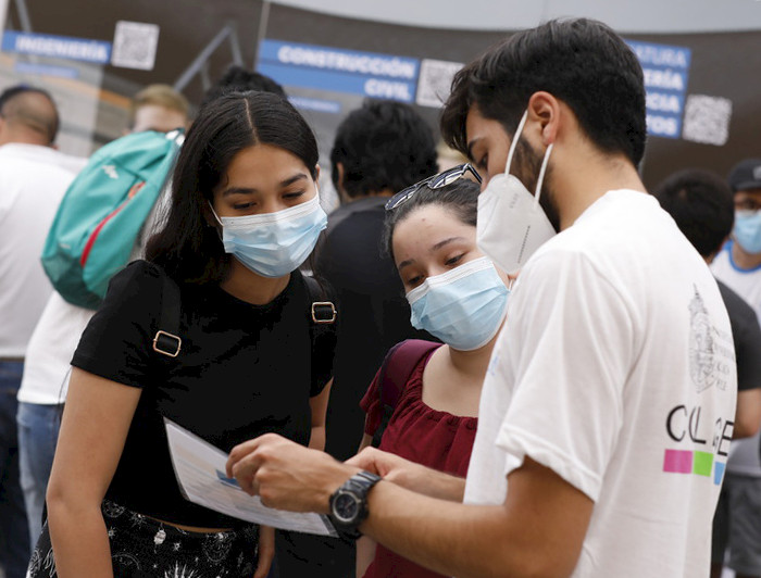
[[[388,198],[436,173],[436,143],[412,108],[367,100],[339,125],[330,164],[341,205],[328,216],[315,263],[340,303],[325,451],[347,460],[362,441],[360,400],[386,352],[411,337],[431,338],[410,325],[410,306],[382,237]]]

